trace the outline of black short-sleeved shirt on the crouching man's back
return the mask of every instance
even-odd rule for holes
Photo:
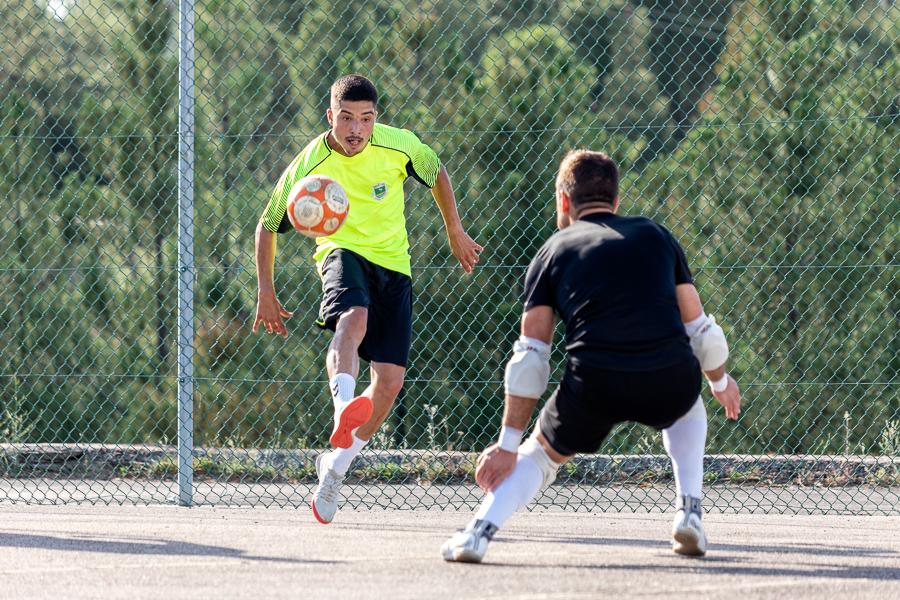
[[[684,251],[645,217],[594,213],[553,234],[525,276],[525,310],[550,306],[575,365],[618,371],[692,356],[675,286],[692,283]]]

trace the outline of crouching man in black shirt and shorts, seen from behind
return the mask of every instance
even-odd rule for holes
[[[740,391],[725,372],[724,333],[703,313],[681,246],[650,219],[616,215],[618,181],[616,164],[600,152],[574,151],[560,165],[560,231],[528,267],[503,427],[475,472],[487,496],[466,529],[441,547],[445,560],[480,562],[497,529],[553,482],[559,465],[596,452],[624,421],[662,430],[677,494],[673,549],[706,553],[701,370],[729,419],[740,413]],[[520,444],[547,388],[554,313],[566,329],[565,372]]]

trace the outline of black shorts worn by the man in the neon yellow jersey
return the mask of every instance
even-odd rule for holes
[[[354,306],[368,309],[359,357],[405,367],[412,343],[412,280],[359,254],[338,248],[322,265],[322,304],[316,325],[334,331]]]

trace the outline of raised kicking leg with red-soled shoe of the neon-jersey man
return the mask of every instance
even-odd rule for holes
[[[362,396],[355,393],[359,374],[357,352],[366,335],[367,323],[367,309],[354,306],[345,311],[337,320],[328,347],[325,366],[334,401],[334,431],[329,441],[336,448],[350,447],[353,430],[372,415],[372,400],[365,393]]]

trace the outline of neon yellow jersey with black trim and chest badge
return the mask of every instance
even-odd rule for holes
[[[345,248],[376,265],[410,275],[403,182],[412,176],[433,188],[440,167],[437,154],[406,129],[376,123],[369,143],[354,156],[334,151],[325,132],[282,173],[260,221],[272,232],[291,230],[285,214],[291,188],[307,175],[325,175],[343,186],[350,212],[334,235],[316,238],[314,258],[319,270],[333,250]]]

